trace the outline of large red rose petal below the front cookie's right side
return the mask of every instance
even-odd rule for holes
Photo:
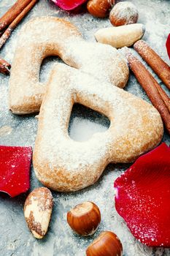
[[[148,246],[170,247],[170,148],[162,143],[116,179],[115,207]]]

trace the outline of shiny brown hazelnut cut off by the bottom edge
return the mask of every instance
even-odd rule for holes
[[[86,250],[87,256],[121,256],[123,246],[115,235],[110,231],[101,233],[96,238],[88,249]]]

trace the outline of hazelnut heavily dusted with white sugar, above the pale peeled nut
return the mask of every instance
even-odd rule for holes
[[[138,10],[129,1],[122,1],[112,8],[109,20],[113,26],[123,26],[136,23],[138,20]]]

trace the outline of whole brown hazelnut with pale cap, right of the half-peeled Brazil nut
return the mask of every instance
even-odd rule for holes
[[[101,213],[95,203],[80,203],[67,213],[67,222],[75,233],[90,236],[101,222]]]

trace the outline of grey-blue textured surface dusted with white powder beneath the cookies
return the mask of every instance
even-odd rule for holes
[[[169,63],[166,54],[165,42],[170,32],[170,1],[160,0],[133,0],[139,9],[139,22],[146,26],[144,39],[152,45],[152,48],[161,54]],[[13,0],[0,0],[0,15],[12,4]],[[17,45],[18,31],[26,21],[36,16],[55,15],[66,18],[79,27],[84,37],[94,41],[93,33],[98,28],[110,26],[109,20],[96,19],[88,13],[69,15],[58,10],[50,1],[40,0],[34,10],[20,23],[12,37],[1,50],[1,56],[12,62],[15,46]],[[42,64],[40,80],[47,80],[49,70],[57,58],[48,58]],[[22,70],[20,70],[22,72]],[[18,74],[19,75],[19,74]],[[0,144],[13,146],[33,146],[36,138],[37,120],[34,116],[14,116],[7,108],[8,77],[0,75]],[[156,79],[158,79],[156,77]],[[158,79],[161,83],[161,81]],[[161,83],[162,84],[162,83]],[[163,86],[163,88],[165,88]],[[125,90],[131,91],[137,96],[147,99],[136,79],[131,75]],[[109,120],[87,108],[75,105],[69,125],[69,134],[74,140],[88,140],[95,132],[104,132],[109,127]],[[165,132],[163,141],[169,143],[169,137]],[[103,230],[112,230],[117,233],[123,243],[124,256],[167,256],[170,249],[152,249],[140,244],[129,233],[123,219],[121,219],[114,207],[113,182],[128,165],[109,165],[100,180],[87,189],[80,192],[62,194],[53,192],[54,209],[50,222],[49,232],[42,240],[36,240],[29,232],[23,217],[23,204],[26,195],[20,195],[13,199],[1,193],[0,195],[0,255],[28,255],[28,256],[82,256],[85,248]],[[31,189],[42,186],[37,181],[34,170],[31,171]],[[84,200],[92,200],[101,209],[102,222],[94,236],[80,238],[72,233],[66,223],[66,212]]]

